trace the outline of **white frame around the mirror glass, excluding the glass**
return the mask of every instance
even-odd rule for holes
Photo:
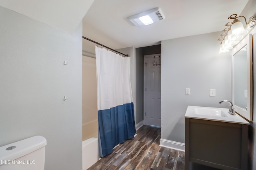
[[[242,109],[235,105],[234,99],[234,55],[240,51],[244,46],[247,45],[247,110]],[[246,35],[240,43],[238,43],[231,52],[231,88],[232,88],[232,103],[234,104],[235,111],[242,117],[252,121],[252,111],[253,111],[253,74],[252,74],[252,34]]]

